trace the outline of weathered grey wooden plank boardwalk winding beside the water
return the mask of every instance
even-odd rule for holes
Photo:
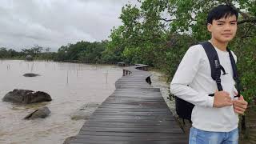
[[[145,67],[124,68],[125,76],[116,82],[114,93],[91,114],[70,143],[188,143],[160,90],[147,83],[150,82],[150,73],[143,71]]]

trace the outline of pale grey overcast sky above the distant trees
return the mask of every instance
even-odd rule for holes
[[[137,0],[0,0],[0,47],[21,50],[107,39],[126,3]]]

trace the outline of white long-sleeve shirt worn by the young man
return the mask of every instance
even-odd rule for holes
[[[226,70],[221,75],[222,88],[234,98],[234,79],[227,51],[217,50],[220,64]],[[232,52],[235,62],[237,57]],[[170,83],[170,92],[178,98],[193,103],[194,109],[191,114],[192,126],[199,130],[229,132],[238,127],[238,114],[234,113],[233,106],[222,108],[213,107],[214,94],[218,90],[217,84],[211,78],[210,62],[202,45],[191,46],[182,58],[178,70]]]

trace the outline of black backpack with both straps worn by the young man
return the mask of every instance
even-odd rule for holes
[[[218,91],[222,91],[223,89],[222,89],[222,83],[221,83],[221,78],[220,78],[221,71],[222,71],[223,75],[226,74],[226,71],[224,70],[224,68],[222,67],[222,65],[219,62],[217,51],[214,49],[214,46],[210,42],[201,42],[200,44],[206,51],[207,57],[210,62],[211,78],[213,78],[214,81],[216,82]],[[230,62],[231,62],[232,70],[233,70],[233,78],[234,78],[234,81],[236,82],[236,88],[238,90],[238,95],[235,97],[239,97],[240,96],[240,81],[238,78],[237,67],[236,67],[236,64],[234,61],[233,54],[231,53],[231,51],[229,49],[227,49],[227,51],[230,54]],[[213,97],[214,94],[209,94],[209,96]],[[194,108],[194,105],[192,103],[186,102],[178,97],[175,97],[175,105],[176,105],[176,112],[178,114],[178,117],[183,118],[183,122],[184,122],[184,119],[188,119],[191,122],[191,113]]]

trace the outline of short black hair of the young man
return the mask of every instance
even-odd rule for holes
[[[218,20],[221,18],[227,18],[235,15],[238,19],[238,10],[234,8],[234,6],[229,5],[219,5],[210,10],[207,17],[207,24],[212,24],[214,20]]]

